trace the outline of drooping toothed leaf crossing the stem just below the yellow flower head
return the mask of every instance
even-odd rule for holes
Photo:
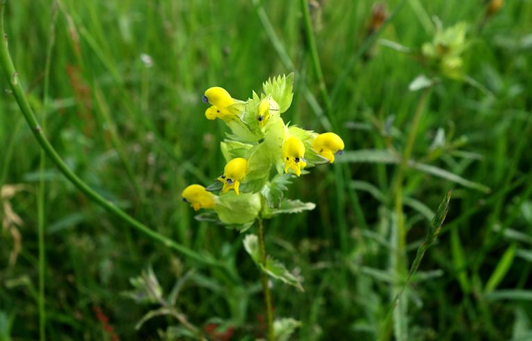
[[[303,286],[300,283],[300,279],[296,278],[296,276],[293,276],[293,274],[288,271],[287,267],[282,264],[282,262],[275,260],[273,257],[268,256],[266,258],[266,266],[261,263],[260,261],[260,251],[259,251],[259,239],[256,235],[246,235],[243,240],[245,251],[251,256],[251,259],[255,264],[257,264],[257,267],[261,269],[261,271],[264,271],[268,274],[268,276],[271,276],[273,278],[276,278],[277,280],[281,280],[284,283],[287,283],[288,285],[292,285],[293,287],[296,287],[301,292],[305,291],[303,290]]]

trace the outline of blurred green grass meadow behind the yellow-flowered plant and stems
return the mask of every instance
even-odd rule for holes
[[[264,336],[259,273],[243,235],[195,221],[180,193],[223,170],[227,129],[204,117],[204,90],[223,86],[245,100],[268,77],[289,72],[295,95],[284,120],[325,132],[325,116],[347,151],[403,150],[421,97],[410,82],[440,77],[412,151],[440,170],[405,173],[410,262],[453,189],[437,244],[405,290],[408,311],[386,324],[392,287],[404,282],[391,266],[397,166],[346,152],[296,179],[287,196],[316,209],[266,225],[268,251],[304,278],[304,293],[272,283],[275,315],[302,322],[293,340],[394,340],[398,319],[408,340],[532,340],[532,1],[504,1],[490,15],[489,1],[380,1],[389,22],[378,36],[370,35],[379,27],[376,3],[310,1],[328,112],[320,109],[300,1],[7,1],[19,79],[72,170],[143,223],[238,273],[227,276],[131,230],[48,160],[49,340],[180,340],[172,316],[135,328],[159,308],[131,299],[129,279],[150,267],[165,296],[187,274],[176,307],[209,340]],[[473,81],[445,79],[417,54],[389,47],[419,51],[433,39],[433,16],[445,27],[467,22],[463,70]],[[1,84],[8,88],[7,79]],[[8,90],[0,97],[0,145],[0,340],[35,340],[40,148]]]

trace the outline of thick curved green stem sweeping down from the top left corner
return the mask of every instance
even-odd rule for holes
[[[2,66],[3,71],[5,72],[6,79],[8,80],[9,86],[13,91],[13,95],[15,95],[15,99],[17,100],[17,104],[19,105],[20,111],[22,111],[22,115],[24,115],[24,118],[26,119],[26,122],[28,123],[31,129],[31,132],[33,132],[33,135],[40,144],[41,148],[45,150],[49,159],[51,159],[51,161],[56,164],[61,173],[63,173],[63,175],[65,175],[65,177],[67,177],[67,179],[70,180],[70,182],[72,182],[72,184],[74,184],[74,186],[76,186],[79,191],[88,196],[88,198],[97,203],[97,205],[103,207],[109,213],[113,214],[117,219],[119,219],[123,223],[131,225],[131,227],[135,228],[144,235],[147,235],[148,237],[151,237],[152,239],[161,242],[167,247],[172,248],[175,251],[178,251],[179,253],[182,253],[183,255],[186,255],[187,257],[196,260],[202,264],[227,268],[225,263],[214,259],[212,256],[197,253],[191,248],[187,248],[186,246],[183,246],[182,244],[179,244],[176,241],[164,235],[161,235],[159,232],[148,228],[143,223],[140,223],[140,221],[134,219],[132,216],[122,211],[122,209],[115,206],[114,203],[111,203],[111,201],[106,200],[104,197],[100,196],[99,193],[97,193],[94,189],[90,188],[88,184],[83,182],[83,180],[81,180],[76,174],[72,172],[72,170],[70,170],[70,168],[68,168],[67,164],[65,164],[65,161],[61,159],[59,154],[49,143],[48,139],[43,133],[42,127],[40,127],[40,125],[38,124],[38,121],[35,118],[35,115],[33,114],[31,106],[29,105],[28,99],[26,98],[26,94],[24,93],[24,90],[22,89],[22,86],[20,84],[18,74],[15,71],[15,66],[13,65],[13,60],[11,59],[11,56],[8,51],[8,35],[6,35],[3,29],[3,10],[5,5],[6,0],[0,0],[0,65]]]

